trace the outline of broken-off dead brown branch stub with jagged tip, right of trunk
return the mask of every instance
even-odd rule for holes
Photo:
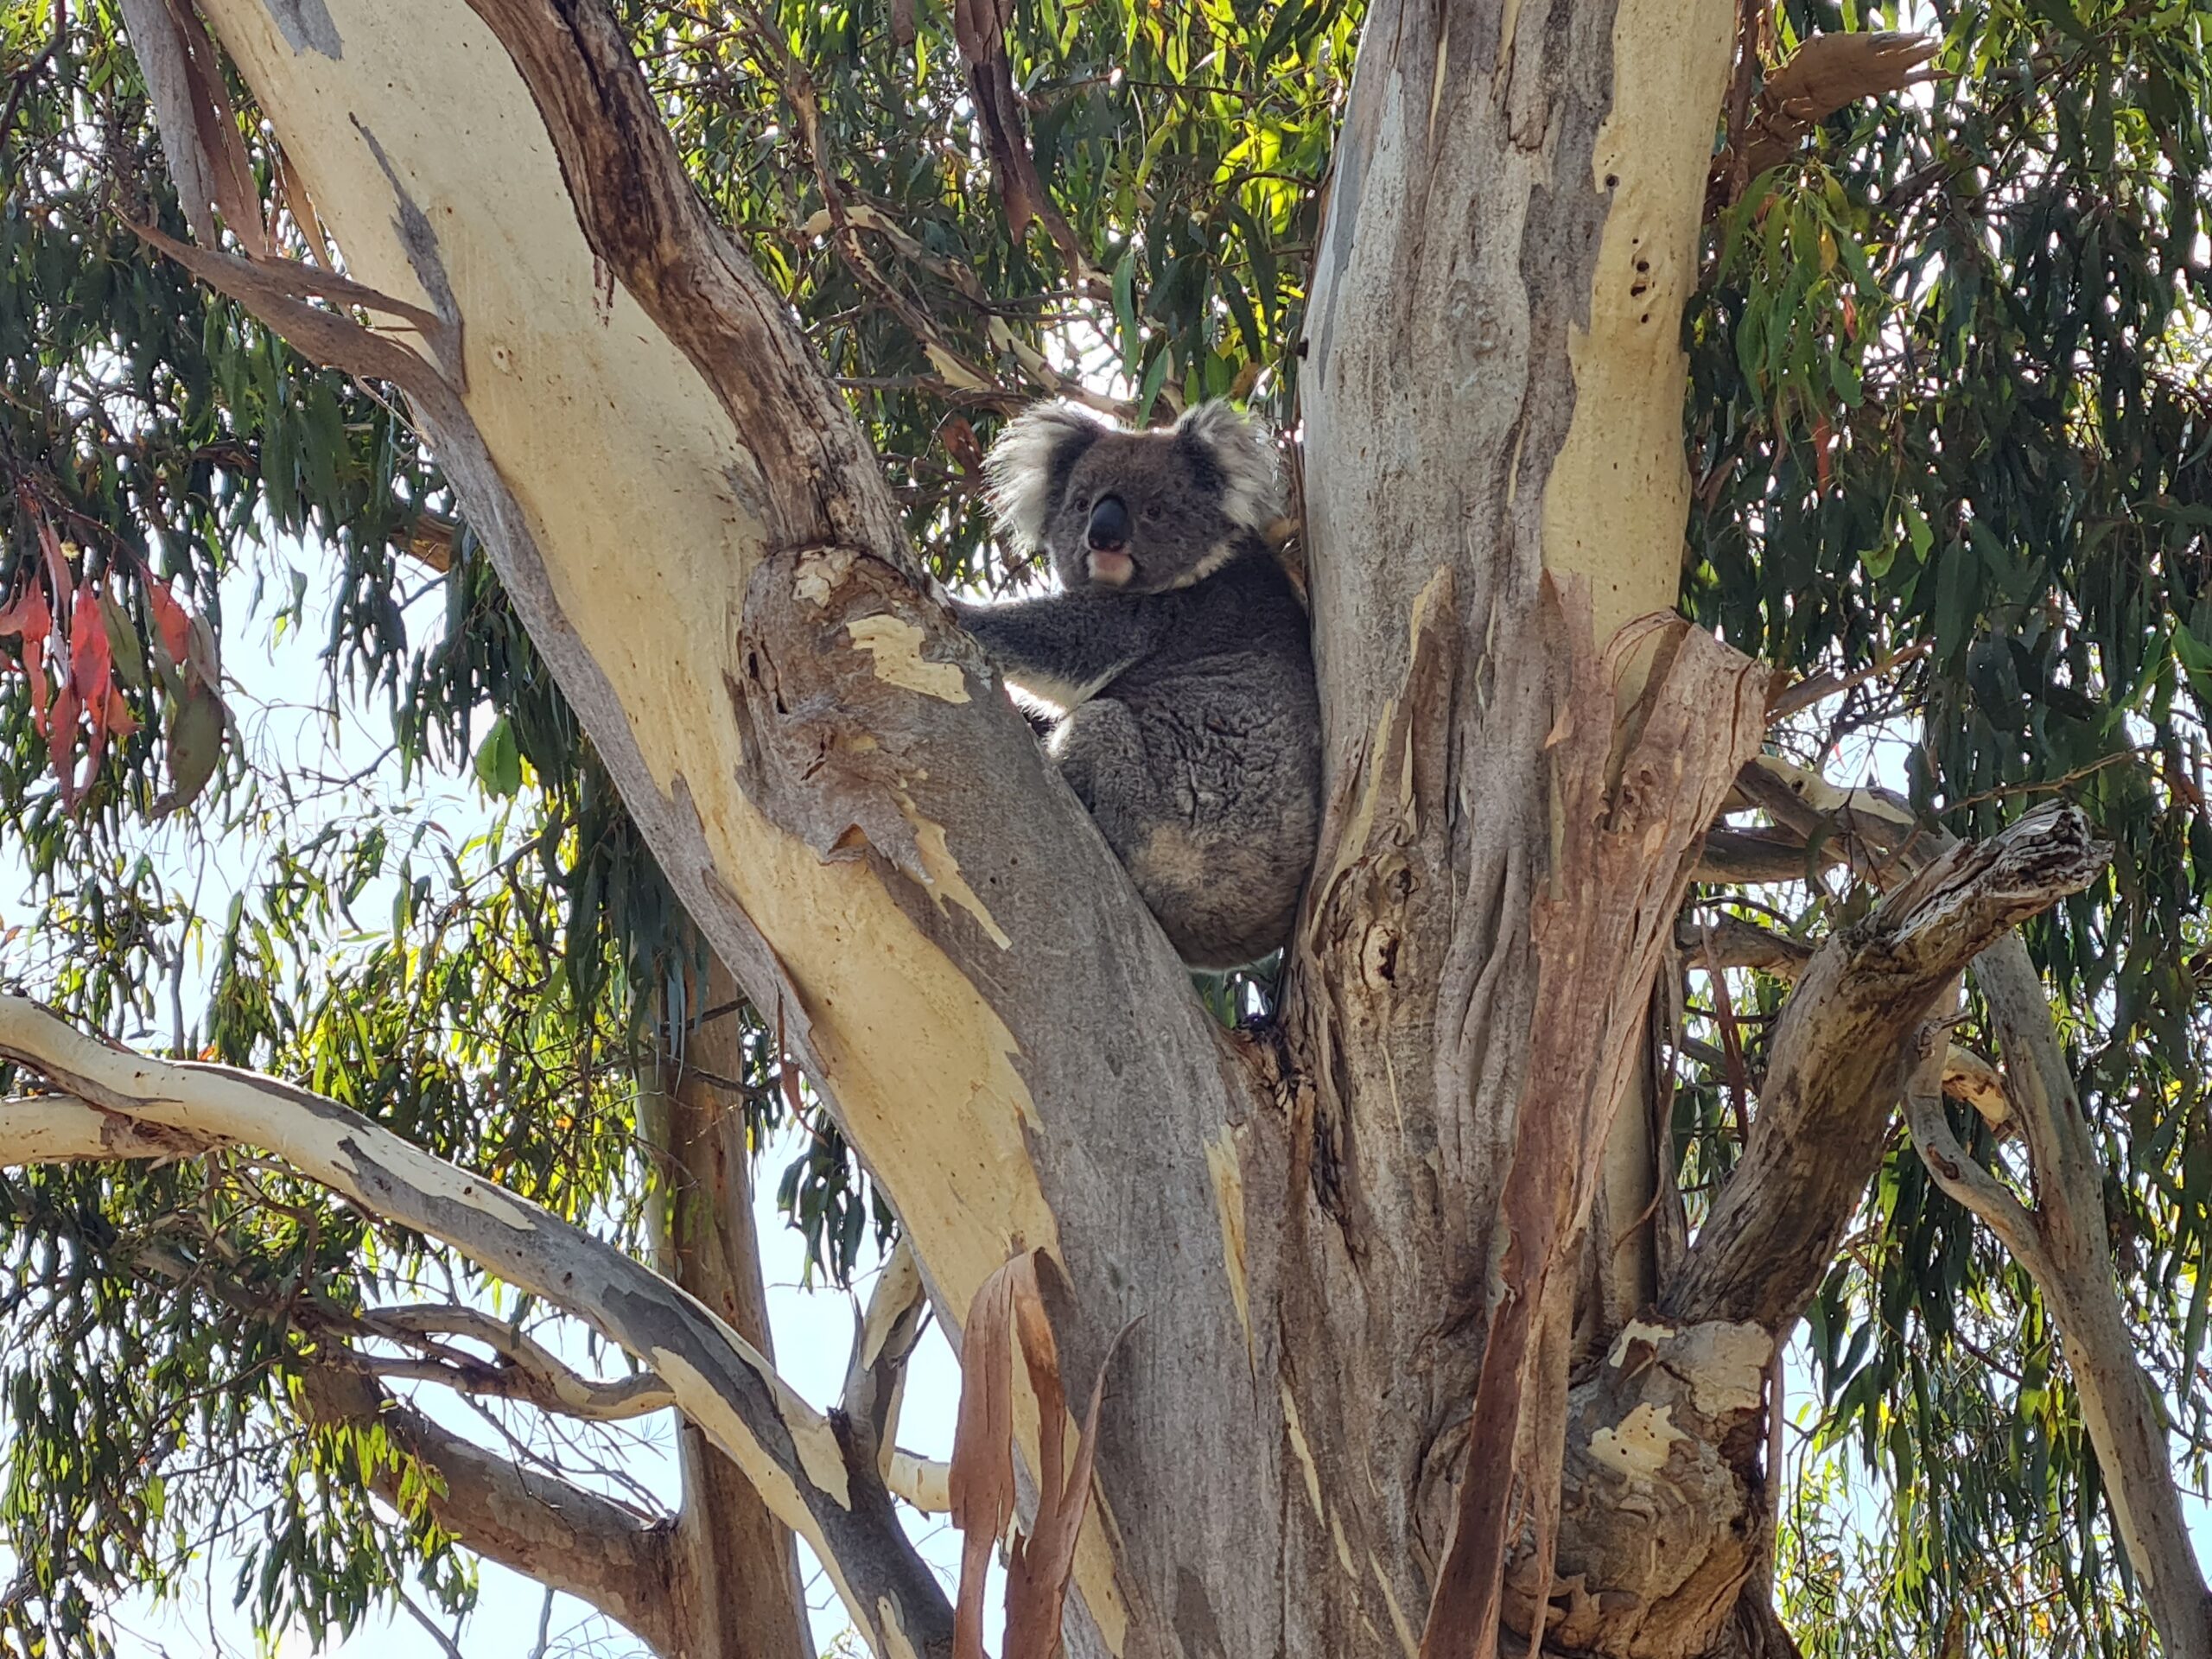
[[[1938,993],[2011,927],[2081,891],[2108,847],[2073,807],[1958,845],[1834,933],[1774,1031],[1750,1146],[1681,1274],[1672,1321],[1781,1332],[1836,1254]]]

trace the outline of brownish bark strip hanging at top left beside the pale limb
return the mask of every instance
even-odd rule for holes
[[[215,210],[239,243],[268,257],[261,192],[223,86],[223,64],[190,0],[122,0],[131,51],[146,75],[146,95],[161,128],[161,148],[177,181],[184,221],[212,252],[221,248]]]

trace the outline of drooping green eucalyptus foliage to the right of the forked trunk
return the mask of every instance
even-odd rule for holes
[[[1916,653],[1805,734],[1807,759],[1882,734],[1960,834],[2066,794],[2119,843],[2110,883],[2031,945],[2108,1135],[2146,1358],[2203,1420],[2212,13],[1931,15],[1927,93],[1836,115],[1714,226],[1688,319],[1686,595],[1774,661]],[[1783,7],[1783,44],[1838,22]],[[1712,1097],[1690,1095],[1692,1172],[1725,1159]],[[1858,1599],[1801,1624],[1809,1650],[2141,1650],[2033,1287],[1911,1148],[1812,1338],[1823,1433],[1889,1511],[1854,1551]]]

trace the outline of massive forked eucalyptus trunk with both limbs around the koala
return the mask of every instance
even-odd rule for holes
[[[265,263],[179,257],[407,392],[661,867],[891,1194],[947,1329],[1013,1250],[1060,1265],[1077,1391],[1135,1321],[1071,1648],[1785,1644],[1739,1599],[1761,1378],[1803,1303],[1756,1259],[1732,1259],[1774,1292],[1747,1312],[1681,1294],[1710,1256],[1661,1281],[1628,1225],[1659,1192],[1644,1104],[1621,1113],[1765,714],[1752,664],[1637,622],[1672,604],[1683,544],[1677,327],[1725,0],[1369,13],[1301,343],[1329,818],[1267,1042],[1210,1024],[918,582],[854,420],[708,221],[597,4],[204,9],[420,349],[305,307],[283,288],[305,279]],[[2079,841],[2022,854],[2051,858],[2044,902]],[[2026,914],[1975,885],[1991,869],[1949,869],[1931,914],[1951,920],[1918,956],[1834,945],[1843,989],[1887,964],[1851,1071],[1882,1110],[1889,1051]],[[1920,898],[1874,945],[1927,922]],[[1829,1102],[1816,1077],[1807,1110]],[[1783,1192],[1792,1121],[1759,1126]],[[403,1197],[504,1250],[538,1225]],[[1732,1239],[1772,1237],[1759,1199]],[[712,1272],[688,1283],[721,1305]],[[849,1425],[825,1462],[750,1363],[717,1387],[690,1312],[606,1283],[878,1652],[942,1652],[900,1540],[838,1562],[889,1513]],[[1655,1298],[1663,1316],[1632,1318]]]

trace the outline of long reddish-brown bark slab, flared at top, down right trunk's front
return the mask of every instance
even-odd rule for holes
[[[1504,1237],[1482,1374],[1420,1659],[1495,1659],[1504,1562],[1524,1526],[1515,1493],[1533,1511],[1533,1577],[1551,1577],[1568,1349],[1546,1340],[1564,1301],[1553,1294],[1555,1270],[1573,1274],[1705,827],[1765,734],[1767,670],[1712,635],[1652,617],[1624,628],[1599,659],[1579,582],[1562,591],[1546,575],[1546,613],[1564,635],[1568,684],[1546,739],[1553,872],[1531,911],[1544,1020],[1500,1192]],[[1617,719],[1617,677],[1655,641],[1644,692]]]

